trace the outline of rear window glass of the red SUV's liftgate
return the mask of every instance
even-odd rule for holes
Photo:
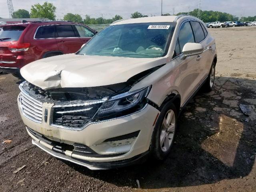
[[[0,42],[18,41],[25,28],[25,26],[4,26],[0,30]]]

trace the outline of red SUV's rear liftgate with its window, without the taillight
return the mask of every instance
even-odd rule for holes
[[[19,52],[11,52],[8,46],[19,40],[20,35],[25,30],[24,25],[3,26],[0,30],[0,65],[9,66],[16,62]]]

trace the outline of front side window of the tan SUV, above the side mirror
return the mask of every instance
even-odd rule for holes
[[[192,28],[190,26],[190,22],[186,22],[186,23],[182,24],[178,38],[179,38],[179,42],[180,42],[180,51],[183,50],[183,47],[186,43],[194,43],[195,42]]]

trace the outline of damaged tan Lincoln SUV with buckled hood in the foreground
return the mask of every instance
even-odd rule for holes
[[[214,85],[215,40],[192,16],[120,20],[76,54],[21,69],[18,107],[32,143],[89,169],[170,153],[180,110]]]

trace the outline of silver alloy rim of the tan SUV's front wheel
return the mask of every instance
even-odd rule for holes
[[[176,118],[173,110],[168,110],[162,122],[160,133],[160,146],[163,152],[169,150],[172,145],[176,126]]]

